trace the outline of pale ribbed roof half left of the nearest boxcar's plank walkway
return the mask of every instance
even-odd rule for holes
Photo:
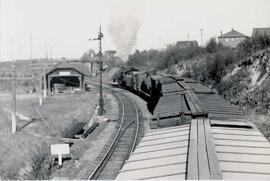
[[[117,180],[185,179],[189,125],[148,131]]]

